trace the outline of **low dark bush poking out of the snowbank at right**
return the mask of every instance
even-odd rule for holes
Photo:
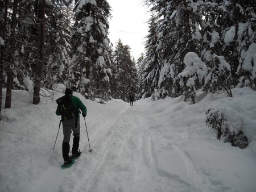
[[[220,140],[221,137],[224,137],[224,141],[231,143],[234,147],[239,147],[241,149],[247,147],[248,140],[242,131],[243,122],[241,118],[236,118],[236,123],[230,123],[230,120],[233,119],[229,119],[224,112],[220,112],[213,108],[209,108],[205,114],[207,116],[205,123],[207,123],[208,127],[212,127],[214,131],[217,131],[216,136],[218,140]]]

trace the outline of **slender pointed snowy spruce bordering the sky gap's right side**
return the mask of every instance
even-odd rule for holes
[[[158,81],[161,70],[162,59],[158,49],[158,32],[155,15],[148,20],[149,30],[146,36],[146,56],[143,60],[143,69],[139,87],[141,92],[139,98],[150,97],[155,89],[158,89]]]

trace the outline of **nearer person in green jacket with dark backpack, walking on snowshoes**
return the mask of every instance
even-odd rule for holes
[[[81,155],[79,150],[80,141],[80,119],[79,113],[82,111],[82,116],[86,116],[86,107],[81,100],[73,96],[71,89],[65,90],[65,95],[57,99],[56,115],[61,115],[63,124],[63,144],[62,144],[62,156],[64,158],[63,166],[69,166],[73,164],[73,159],[78,158]],[[73,147],[72,155],[69,157],[69,140],[71,132],[73,131]]]

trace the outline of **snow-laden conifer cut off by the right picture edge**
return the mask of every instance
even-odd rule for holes
[[[239,9],[238,9],[239,8]],[[239,10],[239,11],[238,11]],[[239,62],[237,76],[240,86],[256,90],[256,3],[238,1],[236,17]],[[237,19],[238,20],[238,19]]]

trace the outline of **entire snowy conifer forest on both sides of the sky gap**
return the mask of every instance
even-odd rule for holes
[[[0,111],[11,90],[64,84],[88,99],[178,97],[256,89],[254,0],[145,0],[146,52],[109,40],[108,0],[0,0]],[[6,94],[3,95],[3,89]],[[5,103],[2,101],[5,100]],[[2,114],[0,114],[1,118]]]

